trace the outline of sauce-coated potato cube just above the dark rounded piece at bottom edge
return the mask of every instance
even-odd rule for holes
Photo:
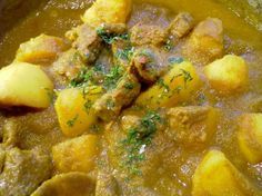
[[[99,138],[94,135],[80,136],[52,148],[52,158],[59,173],[89,173],[99,155]]]

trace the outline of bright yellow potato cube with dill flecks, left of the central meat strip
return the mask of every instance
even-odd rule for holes
[[[101,87],[70,88],[59,92],[54,104],[59,124],[66,136],[83,134],[97,120],[92,105],[101,97]]]

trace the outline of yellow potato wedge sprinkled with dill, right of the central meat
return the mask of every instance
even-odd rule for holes
[[[193,65],[183,61],[173,65],[173,68],[163,78],[139,96],[135,104],[154,109],[173,107],[189,100],[200,86],[201,81]]]

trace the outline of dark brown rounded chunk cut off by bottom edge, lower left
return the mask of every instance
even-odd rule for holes
[[[88,196],[93,195],[95,182],[83,173],[68,173],[44,182],[31,196]]]

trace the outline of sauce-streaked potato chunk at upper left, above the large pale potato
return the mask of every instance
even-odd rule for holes
[[[59,52],[67,49],[61,38],[40,35],[21,43],[16,56],[16,61],[41,63],[54,60]]]

